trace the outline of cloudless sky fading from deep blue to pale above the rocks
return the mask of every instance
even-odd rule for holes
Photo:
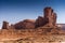
[[[0,27],[3,20],[15,24],[43,16],[46,6],[54,10],[58,24],[65,24],[65,0],[0,0]]]

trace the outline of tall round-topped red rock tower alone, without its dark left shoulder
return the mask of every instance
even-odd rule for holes
[[[48,18],[48,26],[55,26],[56,23],[56,14],[53,12],[51,8],[44,9],[44,18]]]

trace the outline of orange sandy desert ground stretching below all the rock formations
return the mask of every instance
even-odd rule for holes
[[[65,32],[51,28],[3,29],[0,30],[0,43],[65,43]]]

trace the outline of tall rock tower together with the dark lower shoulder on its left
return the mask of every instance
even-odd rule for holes
[[[36,19],[36,27],[54,27],[56,26],[56,14],[53,12],[51,8],[44,9],[44,16],[39,16]]]

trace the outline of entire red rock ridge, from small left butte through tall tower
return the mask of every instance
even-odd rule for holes
[[[8,22],[3,22],[2,29],[35,29],[38,27],[56,27],[56,13],[52,8],[46,8],[44,16],[38,16],[37,19],[24,19],[14,25],[9,26]]]

